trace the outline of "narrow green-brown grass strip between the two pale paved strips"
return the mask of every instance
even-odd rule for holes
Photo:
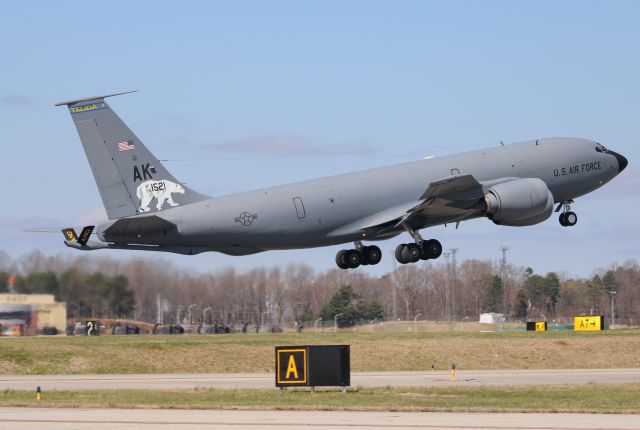
[[[257,410],[640,413],[640,384],[532,388],[0,391],[0,406]]]

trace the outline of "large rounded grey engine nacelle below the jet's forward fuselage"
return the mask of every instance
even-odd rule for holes
[[[489,188],[484,196],[489,219],[499,225],[538,224],[553,212],[553,195],[538,178],[516,179]]]

